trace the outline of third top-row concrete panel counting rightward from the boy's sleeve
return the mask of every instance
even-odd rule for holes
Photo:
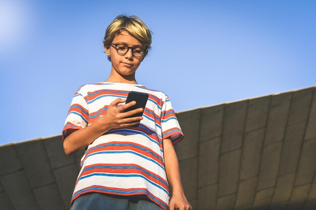
[[[226,104],[221,153],[241,148],[248,101]]]

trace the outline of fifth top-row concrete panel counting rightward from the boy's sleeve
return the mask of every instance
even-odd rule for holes
[[[274,144],[284,138],[292,93],[273,95],[271,98],[265,145]]]

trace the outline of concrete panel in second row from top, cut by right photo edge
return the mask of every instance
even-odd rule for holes
[[[304,141],[295,185],[311,183],[316,169],[316,138]]]

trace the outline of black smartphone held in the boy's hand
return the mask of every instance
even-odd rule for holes
[[[143,108],[142,112],[138,112],[138,113],[133,114],[133,115],[128,116],[128,117],[140,117],[140,116],[142,116],[143,112],[145,110],[147,100],[148,100],[148,93],[130,91],[127,95],[127,99],[125,101],[125,104],[132,102],[132,101],[136,101],[136,104],[125,109],[124,112],[128,112],[128,111],[131,111],[134,109]],[[138,125],[139,125],[139,123],[136,125],[131,125],[130,127],[138,127]]]

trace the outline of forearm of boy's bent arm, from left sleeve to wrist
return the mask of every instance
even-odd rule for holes
[[[95,121],[91,125],[76,130],[64,139],[64,151],[66,155],[81,150],[90,145],[97,137],[107,132],[109,128],[106,125]]]

